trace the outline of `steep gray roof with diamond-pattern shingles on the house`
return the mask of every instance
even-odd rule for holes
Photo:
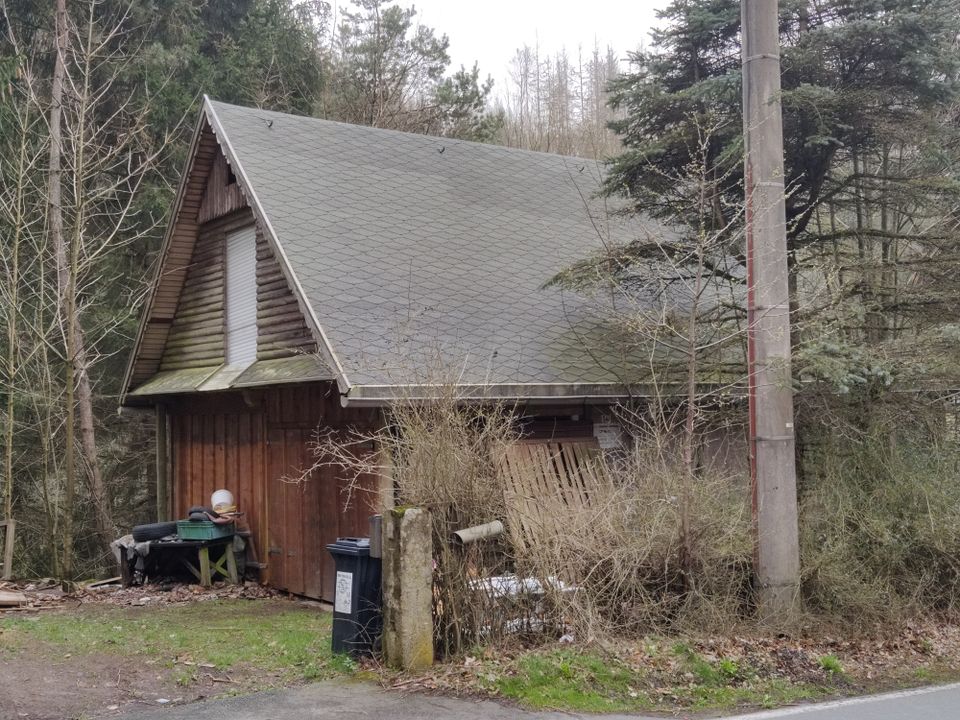
[[[209,108],[351,393],[623,380],[622,362],[601,367],[585,347],[591,306],[542,288],[604,240],[642,231],[593,198],[596,163]]]

